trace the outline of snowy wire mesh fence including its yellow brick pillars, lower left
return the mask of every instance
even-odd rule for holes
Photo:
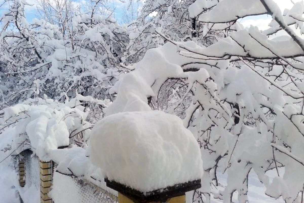
[[[30,150],[19,154],[19,183],[25,190],[33,186],[36,189],[40,188],[41,203],[118,202],[115,194],[105,191],[84,178],[56,172],[56,163],[43,162],[39,160],[38,156],[32,154],[33,152]],[[49,193],[51,188],[54,190],[53,193]]]

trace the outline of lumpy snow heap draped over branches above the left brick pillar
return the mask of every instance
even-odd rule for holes
[[[78,97],[105,105],[102,100]],[[5,108],[3,110],[4,117],[9,119],[7,120],[8,123],[14,124],[14,127],[12,126],[14,131],[10,136],[13,140],[12,149],[18,149],[15,153],[30,147],[40,159],[48,161],[53,150],[60,146],[69,145],[71,131],[75,128],[80,129],[82,126],[87,126],[88,122],[83,120],[88,113],[83,112],[83,108],[77,106],[79,103],[77,99],[72,99],[65,104],[57,103],[51,99],[37,98],[37,100],[41,103],[40,105],[17,104]],[[87,131],[89,129],[84,131],[84,137]],[[20,144],[25,142],[27,138],[30,146],[26,148],[22,145],[20,147]]]

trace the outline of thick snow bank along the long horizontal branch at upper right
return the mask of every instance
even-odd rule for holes
[[[282,46],[285,48],[281,49]],[[286,37],[285,40],[269,40],[267,36],[260,33],[255,26],[231,33],[231,37],[221,39],[209,47],[190,50],[193,53],[181,51],[181,54],[185,56],[193,56],[193,54],[195,54],[196,57],[202,59],[206,59],[207,57],[226,59],[232,55],[250,56],[254,58],[275,58],[278,56],[289,57],[302,53],[302,49],[291,37]]]

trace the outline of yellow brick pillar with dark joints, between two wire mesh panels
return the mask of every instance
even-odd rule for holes
[[[48,193],[51,190],[53,182],[53,164],[52,161],[43,162],[39,160],[40,166],[40,202],[41,203],[53,203],[52,198]]]

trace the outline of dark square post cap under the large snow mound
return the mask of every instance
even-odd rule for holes
[[[105,182],[107,184],[107,187],[112,188],[113,190],[116,190],[119,193],[125,195],[134,203],[147,203],[152,201],[166,202],[169,198],[184,195],[185,192],[192,191],[201,187],[201,180],[193,180],[187,183],[176,184],[150,192],[141,192],[113,180],[108,180],[107,178],[105,178]]]

